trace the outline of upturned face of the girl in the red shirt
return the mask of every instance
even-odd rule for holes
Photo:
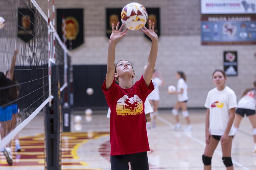
[[[123,75],[133,76],[133,67],[128,61],[122,60],[117,63],[117,76],[122,77]]]

